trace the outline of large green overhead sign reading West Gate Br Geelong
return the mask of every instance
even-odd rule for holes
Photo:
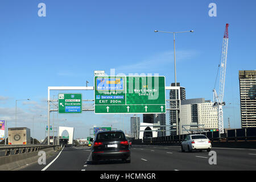
[[[164,76],[94,77],[94,113],[166,113]]]

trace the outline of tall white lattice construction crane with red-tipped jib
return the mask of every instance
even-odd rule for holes
[[[222,106],[225,105],[223,102],[224,97],[224,88],[225,88],[225,77],[226,77],[226,59],[228,54],[228,43],[229,43],[229,34],[228,34],[229,24],[226,23],[226,28],[224,32],[224,38],[222,43],[222,52],[221,52],[221,64],[220,64],[220,86],[218,90],[218,94],[213,89],[213,107],[218,107],[218,129],[220,134],[224,133],[224,119],[223,119],[223,110]]]

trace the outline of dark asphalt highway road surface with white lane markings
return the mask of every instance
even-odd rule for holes
[[[256,149],[212,148],[217,164],[209,164],[208,152],[181,152],[177,146],[131,147],[131,163],[121,160],[92,163],[90,147],[64,147],[47,164],[28,164],[26,171],[184,171],[184,170],[256,170]]]

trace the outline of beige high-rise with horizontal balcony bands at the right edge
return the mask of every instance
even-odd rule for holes
[[[239,71],[242,128],[256,127],[256,70]]]

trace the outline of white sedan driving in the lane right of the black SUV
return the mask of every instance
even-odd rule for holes
[[[181,151],[188,150],[207,150],[208,152],[212,148],[210,140],[205,135],[188,135],[187,138],[181,143]]]

